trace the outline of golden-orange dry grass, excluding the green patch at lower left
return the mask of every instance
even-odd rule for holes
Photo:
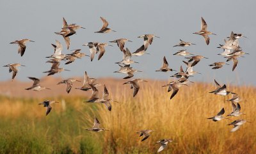
[[[108,84],[106,85],[108,87]],[[170,100],[171,92],[168,93],[166,88],[161,87],[163,85],[161,81],[140,83],[140,85],[140,92],[134,98],[129,85],[109,86],[109,96],[118,101],[112,102],[111,112],[103,104],[83,103],[86,99],[81,97],[54,98],[57,101],[66,100],[67,108],[72,106],[74,111],[79,113],[79,116],[72,116],[76,118],[73,122],[79,125],[78,128],[72,127],[72,129],[78,129],[76,131],[79,132],[79,136],[67,135],[65,132],[62,135],[68,139],[72,151],[79,153],[77,137],[81,141],[88,136],[95,139],[94,144],[102,147],[102,153],[156,153],[159,148],[159,145],[155,144],[156,141],[164,138],[172,138],[178,143],[169,143],[161,153],[254,153],[256,151],[254,87],[227,85],[228,90],[236,92],[247,100],[240,102],[241,111],[246,115],[212,122],[207,118],[216,115],[221,108],[225,108],[225,115],[232,111],[230,102],[226,101],[230,96],[209,94],[214,89],[214,85],[195,83],[189,87],[181,87],[172,100]],[[36,104],[40,101],[42,99],[33,99],[30,103],[28,99],[23,101],[14,98],[3,99],[0,103],[0,117],[13,120],[20,116],[26,116],[28,119],[35,117],[44,119],[45,110]],[[66,112],[64,105],[53,106],[54,113],[49,114],[51,117]],[[85,127],[92,127],[93,115],[99,118],[102,127],[111,131],[93,133],[83,130]],[[245,123],[236,132],[230,132],[232,126],[227,124],[241,118],[252,123]],[[72,129],[68,130],[72,132]],[[141,142],[136,132],[143,129],[152,129],[155,132]]]

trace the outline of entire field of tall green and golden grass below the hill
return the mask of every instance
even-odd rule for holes
[[[108,86],[108,84],[106,84]],[[255,153],[256,99],[254,87],[231,87],[246,101],[240,102],[239,117],[220,122],[207,118],[225,108],[231,113],[231,96],[209,94],[214,85],[195,83],[181,87],[170,101],[171,93],[161,83],[141,83],[140,92],[132,97],[128,85],[108,87],[113,102],[109,112],[103,104],[86,104],[83,97],[45,99],[0,97],[0,153],[156,153],[163,138],[172,138],[161,153]],[[101,87],[99,88],[101,89]],[[113,94],[112,91],[115,91]],[[118,92],[118,93],[117,93]],[[101,97],[101,93],[100,93]],[[52,111],[38,102],[54,99]],[[94,115],[109,132],[89,132]],[[230,132],[228,123],[236,119],[245,123]],[[141,142],[136,131],[155,130]]]

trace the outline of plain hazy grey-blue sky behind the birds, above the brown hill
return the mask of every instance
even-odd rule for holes
[[[153,78],[168,80],[172,72],[161,73],[156,69],[162,64],[164,55],[170,67],[179,70],[180,65],[185,67],[182,60],[184,57],[174,56],[173,53],[182,47],[172,47],[179,43],[179,39],[196,43],[194,46],[186,47],[188,52],[196,55],[204,55],[209,59],[203,59],[194,69],[202,74],[195,75],[194,81],[213,81],[216,78],[220,83],[238,83],[256,85],[255,73],[255,49],[256,43],[256,21],[255,1],[9,1],[0,2],[0,64],[4,66],[9,63],[20,63],[26,67],[20,67],[16,80],[28,81],[27,76],[42,78],[43,71],[48,71],[50,64],[45,63],[46,56],[52,55],[55,39],[63,45],[63,53],[67,50],[62,36],[54,34],[61,30],[62,17],[68,24],[76,23],[86,27],[77,30],[77,34],[70,36],[70,50],[81,48],[87,55],[90,53],[88,46],[82,46],[90,41],[105,42],[118,38],[127,38],[126,47],[134,52],[143,44],[143,39],[137,38],[143,34],[156,34],[160,38],[154,38],[147,52],[150,55],[132,57],[140,64],[132,67],[143,71],[137,73],[135,78]],[[109,22],[109,28],[117,31],[108,34],[97,34],[102,26],[100,16]],[[204,17],[208,30],[217,34],[211,35],[210,44],[205,44],[202,36],[192,34],[200,30],[201,17]],[[223,39],[230,32],[243,33],[248,38],[240,39],[240,46],[244,52],[250,53],[245,58],[239,58],[236,70],[232,72],[230,66],[212,70],[208,65],[212,62],[224,61],[218,53],[222,50],[216,48],[223,44]],[[17,45],[9,43],[15,39],[29,38],[35,43],[27,43],[26,52],[23,57],[17,53]],[[77,59],[74,63],[61,67],[72,71],[64,71],[54,76],[68,78],[70,76],[83,76],[87,71],[95,78],[111,76],[124,78],[124,74],[113,73],[119,66],[115,62],[122,60],[122,52],[116,44],[106,47],[106,53],[99,61],[90,62],[88,57]],[[10,80],[12,74],[8,73],[6,67],[0,67],[0,81]]]

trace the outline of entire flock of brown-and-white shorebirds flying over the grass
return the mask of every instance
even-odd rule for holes
[[[105,18],[100,17],[100,19],[102,20],[103,25],[102,25],[102,28],[97,32],[99,32],[99,33],[107,33],[107,32],[111,32],[111,31],[116,32],[116,31],[113,31],[112,29],[108,28],[108,22]],[[65,18],[63,18],[63,26],[61,28],[61,31],[55,32],[55,33],[63,36],[63,39],[65,40],[65,43],[66,43],[67,49],[68,49],[70,46],[70,36],[76,34],[77,29],[84,29],[84,27],[81,27],[80,25],[77,25],[77,24],[67,24]],[[205,43],[207,45],[209,45],[209,42],[210,42],[209,35],[214,34],[214,33],[207,31],[207,24],[206,24],[204,18],[202,18],[202,24],[201,24],[200,31],[194,32],[193,34],[198,34],[198,35],[203,36],[205,39]],[[216,34],[214,34],[214,35],[216,35]],[[123,54],[124,54],[123,59],[120,62],[116,62],[116,64],[118,64],[120,66],[120,69],[118,71],[114,72],[114,73],[127,74],[127,76],[125,76],[124,79],[132,78],[134,76],[134,73],[141,72],[141,71],[138,71],[137,69],[133,69],[131,67],[131,64],[138,63],[138,62],[135,62],[134,60],[132,60],[131,57],[132,56],[141,56],[144,53],[149,54],[146,52],[148,49],[148,46],[152,45],[153,38],[159,38],[159,37],[155,36],[154,34],[145,34],[142,36],[138,36],[138,38],[143,38],[143,45],[141,45],[140,48],[138,48],[138,50],[136,50],[133,53],[131,53],[128,48],[125,48],[125,43],[130,40],[120,38],[120,39],[116,39],[113,41],[109,41],[110,43],[116,43],[117,46],[120,48],[120,51],[123,52]],[[243,36],[243,34],[235,34],[234,32],[231,32],[230,36],[227,38],[228,38],[227,40],[225,39],[225,44],[218,46],[218,48],[223,49],[223,52],[218,55],[222,55],[224,58],[226,58],[227,62],[232,60],[233,61],[232,71],[234,71],[234,69],[236,69],[236,66],[238,63],[237,58],[243,57],[245,54],[248,54],[248,53],[243,52],[243,50],[241,50],[241,47],[239,46],[239,41],[238,41],[240,38],[246,38],[246,37]],[[31,41],[31,40],[30,39],[20,39],[20,40],[13,41],[10,44],[17,44],[19,46],[18,53],[20,53],[20,56],[23,56],[26,51],[26,43],[28,43],[29,41]],[[34,41],[31,41],[31,42],[34,42]],[[175,45],[175,46],[186,47],[186,46],[191,46],[191,45],[195,45],[195,44],[186,42],[186,41],[182,41],[180,39],[179,44]],[[49,59],[46,62],[51,63],[51,69],[49,69],[49,71],[44,72],[44,73],[48,73],[47,76],[50,76],[50,75],[53,75],[56,73],[61,73],[61,71],[69,71],[68,69],[64,69],[64,68],[60,67],[60,62],[62,60],[66,61],[65,64],[71,64],[76,59],[81,59],[84,56],[89,56],[84,53],[81,53],[81,49],[72,50],[72,53],[63,54],[63,53],[61,53],[61,51],[63,50],[63,46],[57,40],[56,40],[56,45],[52,44],[52,46],[54,48],[54,53],[51,56],[46,57],[47,59]],[[108,46],[108,44],[107,43],[99,43],[99,42],[89,42],[89,43],[84,43],[83,46],[89,47],[90,60],[92,61],[97,53],[99,53],[98,60],[100,60],[103,57],[104,53],[106,52],[105,46]],[[112,46],[112,45],[109,45],[109,46]],[[173,46],[173,47],[175,47],[175,46]],[[179,52],[174,53],[173,55],[180,55],[180,56],[184,56],[184,57],[188,56],[188,55],[192,55],[192,56],[185,57],[185,59],[188,59],[188,61],[185,61],[185,60],[182,61],[187,66],[186,71],[184,71],[182,66],[180,66],[180,71],[173,74],[172,76],[170,76],[172,78],[177,78],[177,80],[171,81],[170,83],[163,85],[163,87],[168,87],[168,92],[172,91],[172,95],[170,96],[170,99],[173,99],[173,97],[175,97],[175,95],[179,92],[179,87],[181,87],[182,85],[188,86],[189,83],[193,83],[193,81],[188,80],[189,77],[195,75],[196,73],[200,74],[196,71],[193,71],[193,67],[196,66],[200,62],[201,59],[208,59],[207,57],[204,57],[202,55],[193,55],[193,53],[189,53],[186,50],[179,50]],[[209,66],[213,66],[212,69],[220,69],[225,64],[227,64],[227,63],[226,62],[214,62],[213,64],[210,64]],[[14,80],[15,76],[17,75],[17,73],[18,73],[17,67],[19,67],[19,66],[24,66],[24,65],[8,64],[8,65],[4,66],[4,67],[9,67],[9,72],[13,73],[12,80]],[[168,71],[175,71],[175,70],[169,67],[166,57],[164,56],[163,57],[163,65],[156,71],[168,72]],[[28,78],[30,80],[33,80],[33,85],[29,88],[26,88],[26,90],[41,91],[44,89],[50,89],[50,88],[43,87],[42,85],[40,85],[40,79],[35,78],[35,77],[28,77]],[[72,88],[72,83],[75,81],[79,81],[79,80],[76,80],[75,78],[68,78],[66,80],[60,81],[58,84],[63,84],[63,83],[66,84],[67,85],[66,91],[67,91],[67,93],[69,93]],[[127,81],[124,83],[124,85],[126,85],[126,84],[131,85],[131,88],[133,89],[133,97],[135,97],[138,94],[138,92],[140,90],[139,83],[141,81],[145,81],[145,80],[136,78],[136,79],[133,79],[133,80],[130,80],[130,81]],[[81,82],[81,81],[79,81],[79,82]],[[147,82],[147,81],[145,81],[145,82]],[[244,115],[244,113],[240,112],[241,106],[240,106],[239,102],[246,101],[246,100],[241,99],[241,97],[239,97],[239,95],[234,92],[228,92],[226,90],[226,88],[227,88],[226,85],[221,86],[216,80],[214,80],[214,83],[216,85],[216,90],[213,90],[212,92],[210,92],[211,94],[216,94],[216,95],[232,94],[232,98],[228,100],[232,104],[232,113],[228,114],[227,116]],[[87,72],[85,71],[83,86],[76,88],[76,89],[83,90],[83,91],[92,90],[92,96],[86,102],[104,104],[106,106],[106,108],[109,111],[111,111],[111,102],[117,102],[117,101],[109,99],[109,92],[108,92],[106,85],[104,85],[102,97],[99,97],[99,90],[97,89],[97,87],[99,87],[99,86],[100,86],[100,84],[97,83],[97,80],[95,78],[89,78]],[[56,102],[56,101],[44,101],[44,102],[39,103],[39,104],[44,105],[44,107],[46,108],[46,115],[48,115],[51,112],[51,109],[52,109],[51,104],[54,102]],[[56,103],[59,103],[59,102],[56,102]],[[225,113],[225,109],[222,108],[221,111],[216,116],[213,116],[208,119],[211,119],[214,122],[220,121],[223,118],[225,118],[223,116],[224,113]],[[241,127],[241,125],[243,125],[245,122],[246,122],[246,120],[238,119],[228,125],[234,125],[234,128],[231,130],[231,132],[234,132],[237,129],[239,129]],[[97,117],[95,116],[93,127],[91,129],[86,129],[86,130],[100,132],[100,131],[104,131],[107,129],[100,127],[100,122],[97,119]],[[109,131],[109,130],[107,130],[107,131]],[[143,139],[141,141],[145,141],[150,136],[149,133],[152,131],[153,130],[141,130],[137,133],[140,134],[140,137],[143,136]],[[157,141],[157,143],[161,144],[161,146],[157,152],[162,151],[164,148],[166,148],[167,144],[171,143],[171,142],[175,142],[175,141],[173,141],[172,139],[161,139],[161,141]]]

